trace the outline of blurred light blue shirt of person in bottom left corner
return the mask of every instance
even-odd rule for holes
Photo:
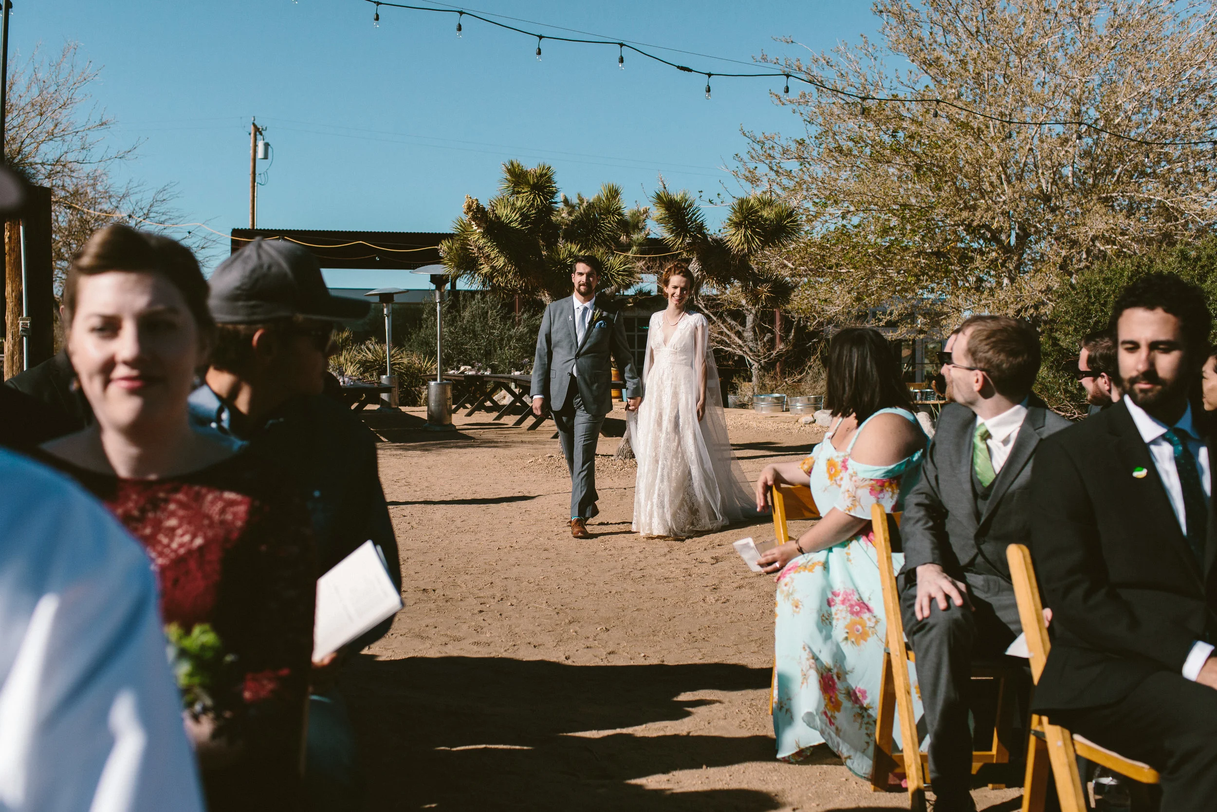
[[[144,550],[4,450],[0,493],[0,810],[202,812]]]

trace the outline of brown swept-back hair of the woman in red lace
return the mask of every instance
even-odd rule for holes
[[[215,320],[207,308],[207,280],[198,269],[198,261],[176,240],[139,231],[128,225],[107,225],[94,231],[80,252],[72,258],[63,281],[63,309],[67,323],[77,304],[77,289],[82,276],[95,276],[112,270],[145,271],[164,276],[186,301],[195,318],[198,334],[208,343],[215,332]]]

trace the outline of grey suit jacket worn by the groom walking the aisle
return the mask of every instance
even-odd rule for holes
[[[583,409],[593,415],[606,415],[612,411],[612,360],[626,379],[626,397],[641,397],[643,383],[618,308],[598,296],[583,343],[579,343],[574,331],[574,297],[553,302],[545,308],[537,334],[532,396],[544,397],[550,409],[561,409],[571,386],[571,370],[578,365],[576,380]]]

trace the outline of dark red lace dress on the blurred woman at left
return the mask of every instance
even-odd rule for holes
[[[106,503],[156,569],[164,622],[209,623],[242,678],[235,763],[204,769],[208,808],[290,808],[313,651],[308,513],[247,453],[167,480],[123,480],[50,458]]]

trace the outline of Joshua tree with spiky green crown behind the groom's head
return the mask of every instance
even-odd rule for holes
[[[595,254],[600,286],[619,291],[638,279],[630,251],[647,236],[645,207],[626,209],[621,187],[605,184],[593,197],[559,195],[554,169],[503,164],[499,194],[483,206],[465,197],[455,236],[441,247],[444,265],[487,290],[545,301],[571,291],[571,259]]]

